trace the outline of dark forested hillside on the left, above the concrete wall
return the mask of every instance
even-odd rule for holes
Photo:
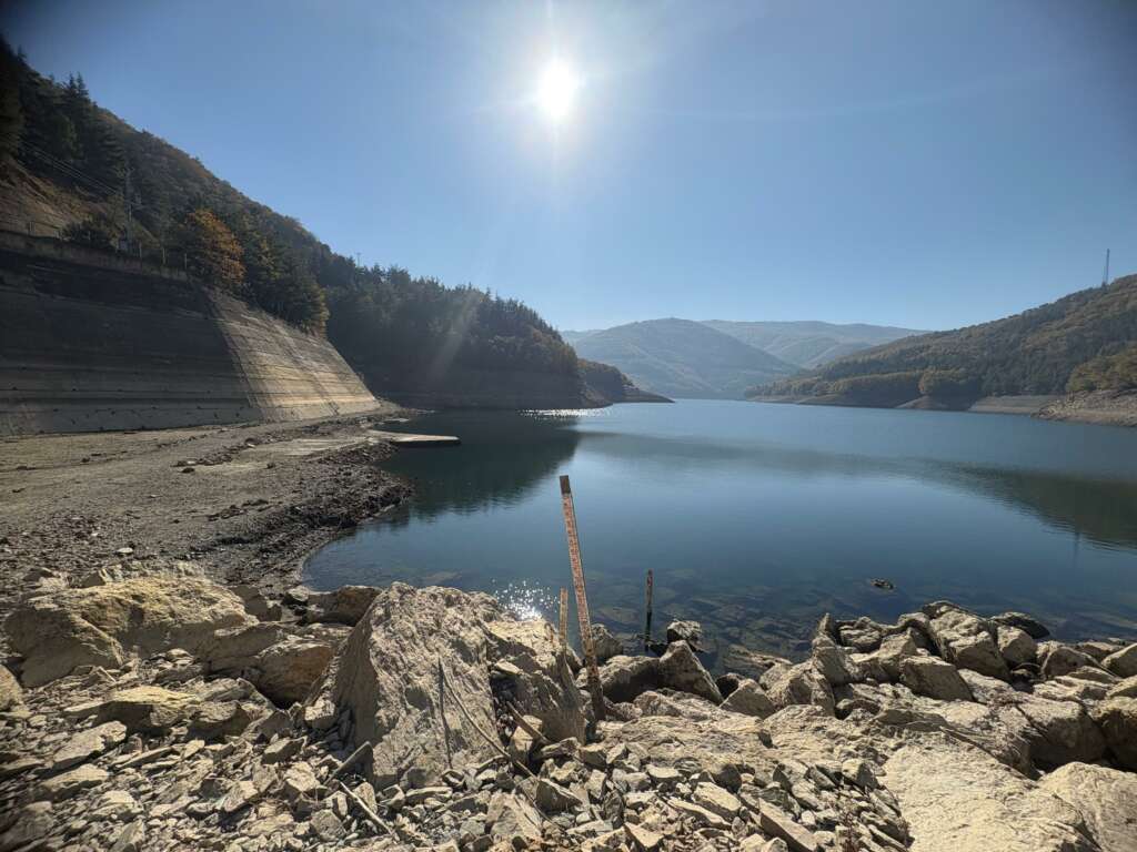
[[[478,399],[468,401],[483,403],[512,382],[508,398],[518,404],[589,395],[573,349],[524,304],[396,266],[357,265],[98,107],[81,76],[43,77],[7,44],[0,85],[0,228],[184,267],[300,328],[326,332],[376,393],[462,403],[458,391],[474,385]]]

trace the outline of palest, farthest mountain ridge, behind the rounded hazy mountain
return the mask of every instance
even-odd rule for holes
[[[891,343],[913,334],[927,334],[914,328],[894,328],[886,325],[854,323],[836,325],[813,320],[792,323],[740,323],[707,319],[704,325],[737,337],[787,364],[799,367],[820,367],[838,358],[864,349]],[[572,343],[573,341],[568,341]]]

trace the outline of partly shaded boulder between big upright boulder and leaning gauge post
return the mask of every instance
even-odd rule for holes
[[[542,618],[492,621],[487,626],[489,657],[507,661],[509,700],[522,713],[541,720],[551,741],[584,742],[584,705],[572,673],[557,653],[559,641]]]

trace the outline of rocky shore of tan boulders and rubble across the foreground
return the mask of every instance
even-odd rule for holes
[[[0,850],[1030,850],[1137,836],[1137,644],[930,603],[712,677],[457,590],[279,599],[189,562],[8,615]]]

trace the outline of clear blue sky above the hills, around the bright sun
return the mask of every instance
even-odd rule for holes
[[[6,3],[333,249],[561,328],[947,328],[1137,272],[1137,2]],[[534,100],[553,57],[579,90]]]

